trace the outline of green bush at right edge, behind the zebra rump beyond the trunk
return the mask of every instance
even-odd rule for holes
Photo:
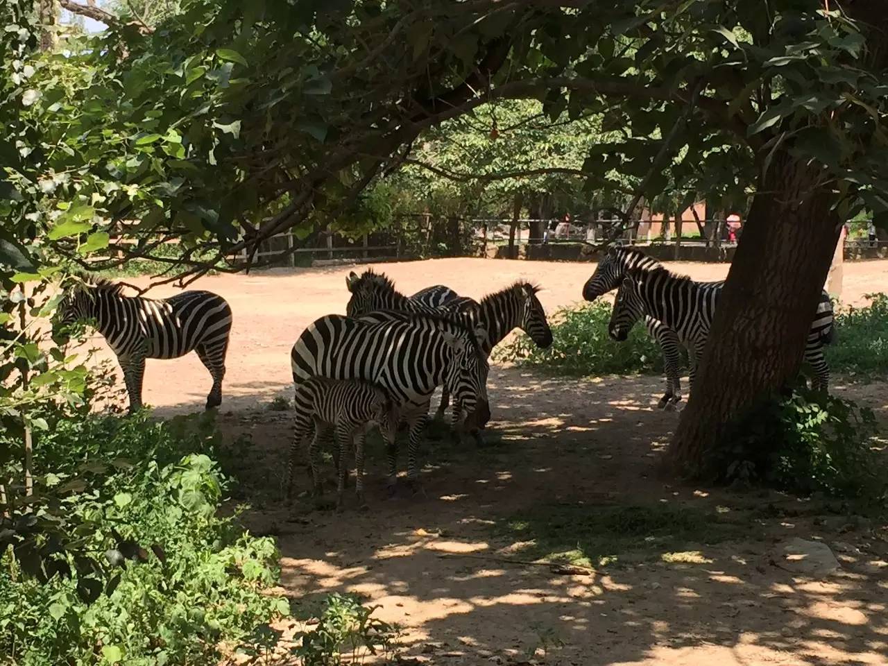
[[[870,305],[836,313],[836,339],[826,350],[832,370],[864,376],[888,371],[888,295],[867,297]]]

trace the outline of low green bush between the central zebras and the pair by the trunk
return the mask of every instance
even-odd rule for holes
[[[520,334],[496,348],[497,361],[542,366],[555,375],[630,375],[662,372],[662,353],[643,325],[636,324],[625,342],[607,333],[611,305],[603,301],[559,310],[552,320],[552,344],[540,349]]]

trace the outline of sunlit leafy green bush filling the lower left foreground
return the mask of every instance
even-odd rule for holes
[[[34,666],[214,663],[222,641],[289,612],[263,593],[278,574],[274,540],[218,515],[226,479],[204,424],[49,421],[35,448],[37,492],[71,488],[63,509],[98,525],[85,546],[104,553],[107,583],[87,604],[84,583],[99,582],[82,560],[67,555],[67,575],[41,584],[4,548],[0,654]]]

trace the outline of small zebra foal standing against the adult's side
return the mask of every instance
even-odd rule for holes
[[[364,436],[373,426],[385,438],[387,447],[392,448],[398,432],[398,413],[385,390],[358,380],[338,380],[327,377],[311,377],[296,386],[296,423],[293,444],[289,451],[287,476],[284,479],[287,502],[292,500],[293,464],[297,450],[309,432],[314,437],[308,448],[308,464],[312,470],[312,485],[315,496],[323,492],[318,479],[318,444],[323,432],[333,428],[336,432],[338,448],[337,506],[343,505],[343,489],[348,466],[345,456],[350,445],[354,445],[354,462],[357,472],[355,489],[358,503],[364,503]]]

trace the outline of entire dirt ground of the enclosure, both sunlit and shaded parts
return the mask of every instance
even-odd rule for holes
[[[406,293],[445,283],[480,297],[527,278],[543,285],[550,313],[581,299],[594,268],[482,259],[379,267]],[[670,267],[700,280],[727,270]],[[289,398],[289,349],[305,325],[345,311],[352,269],[215,276],[194,285],[217,291],[234,309],[218,423],[239,442],[232,455],[240,498],[254,507],[247,524],[278,537],[281,591],[297,609],[321,592],[361,594],[378,605],[379,618],[400,624],[407,663],[888,664],[884,526],[823,499],[662,480],[658,453],[678,416],[654,408],[659,377],[566,380],[494,367],[489,446],[427,442],[424,495],[388,498],[382,456],[371,449],[369,511],[358,511],[351,497],[343,513],[316,510],[306,497],[281,506],[289,414],[266,406],[277,395]],[[888,261],[845,265],[845,302],[863,305],[863,294],[884,289]],[[144,398],[161,416],[192,412],[209,385],[196,357],[149,361]],[[835,389],[888,421],[888,385],[839,379]],[[297,480],[305,490],[304,469]],[[638,507],[702,517],[702,528],[695,523],[673,538],[646,535],[629,521],[625,529],[638,544],[595,572],[514,562],[535,559],[540,545],[582,550],[582,526],[571,543],[563,523]],[[841,568],[798,574],[782,551],[793,538],[828,544]]]

